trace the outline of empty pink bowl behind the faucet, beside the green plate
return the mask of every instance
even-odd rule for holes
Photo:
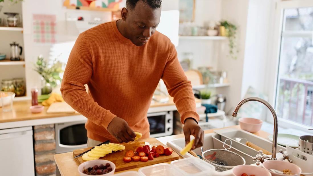
[[[254,118],[240,118],[239,120],[240,128],[247,132],[258,132],[262,127],[262,121]]]

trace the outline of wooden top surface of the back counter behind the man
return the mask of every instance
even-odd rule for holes
[[[196,102],[199,103],[201,100],[196,99]],[[155,102],[151,104],[150,108],[160,108],[162,106],[173,106],[175,105],[173,102],[173,98],[170,97],[167,103],[159,103]],[[35,119],[44,119],[44,118],[52,118],[52,117],[64,117],[64,116],[73,116],[79,115],[79,113],[53,113],[48,114],[47,109],[48,107],[44,107],[44,111],[41,113],[31,113],[29,107],[31,106],[31,101],[14,101],[13,102],[13,110],[9,112],[3,112],[0,107],[0,123],[3,122],[16,122],[16,121],[23,121],[23,120],[35,120]]]

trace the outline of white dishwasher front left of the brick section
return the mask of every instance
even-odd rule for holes
[[[32,127],[0,130],[0,175],[34,176]]]

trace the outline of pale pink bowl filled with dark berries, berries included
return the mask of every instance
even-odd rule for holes
[[[80,176],[88,175],[113,175],[115,164],[104,159],[86,161],[78,166]]]

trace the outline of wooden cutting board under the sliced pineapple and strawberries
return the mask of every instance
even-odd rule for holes
[[[164,144],[162,144],[160,141],[156,140],[156,138],[139,139],[138,141],[121,143],[121,144],[125,146],[125,150],[118,151],[118,152],[112,152],[111,154],[108,154],[105,157],[100,158],[100,159],[109,160],[109,161],[115,163],[115,166],[116,166],[115,172],[119,172],[119,171],[127,170],[127,169],[132,169],[132,168],[140,168],[140,167],[144,167],[144,166],[148,166],[148,165],[152,165],[152,164],[164,163],[167,161],[173,161],[173,160],[179,159],[179,155],[173,151],[173,153],[169,156],[160,155],[159,157],[154,158],[154,160],[149,160],[147,162],[131,161],[130,163],[125,163],[123,161],[123,158],[125,156],[125,153],[129,150],[133,150],[135,152],[135,155],[138,155],[138,154],[136,154],[136,149],[139,146],[149,145],[150,149],[151,149],[152,146],[157,146],[157,145],[164,146]],[[164,148],[167,148],[167,147],[164,146]],[[83,153],[89,149],[90,148],[73,150],[73,156],[77,156],[80,153]],[[85,162],[82,159],[82,157],[75,158],[74,160],[76,161],[77,164],[81,164],[81,163]]]

